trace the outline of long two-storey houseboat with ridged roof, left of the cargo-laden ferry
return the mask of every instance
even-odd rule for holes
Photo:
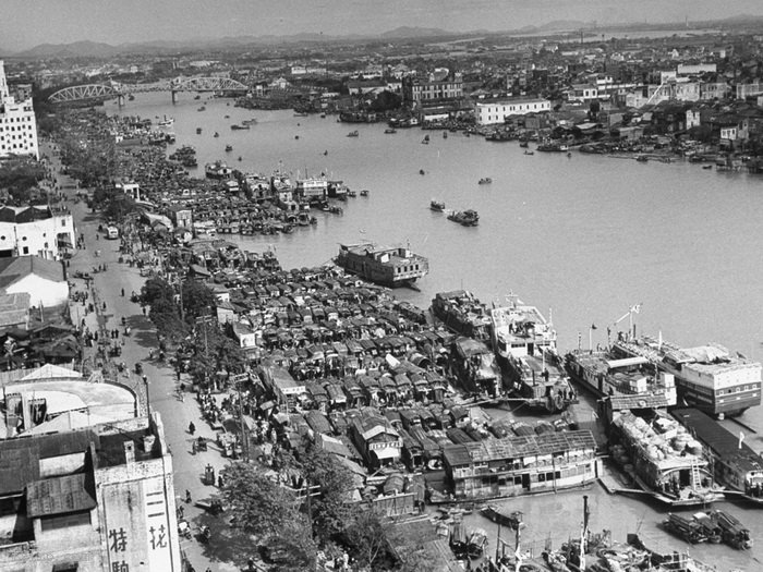
[[[590,430],[446,446],[445,478],[457,498],[513,497],[581,486],[597,477]]]

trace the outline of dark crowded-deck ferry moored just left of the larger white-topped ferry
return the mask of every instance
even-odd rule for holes
[[[432,314],[446,328],[487,342],[491,339],[491,317],[487,307],[467,290],[438,292],[432,300]]]

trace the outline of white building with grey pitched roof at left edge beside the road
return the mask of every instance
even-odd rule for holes
[[[33,306],[53,307],[69,301],[62,263],[37,256],[0,258],[0,294],[28,293]]]

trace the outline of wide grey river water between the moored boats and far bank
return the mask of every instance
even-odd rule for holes
[[[205,105],[205,111],[198,111]],[[118,111],[107,104],[106,111]],[[429,258],[421,292],[396,294],[426,307],[436,292],[465,288],[484,302],[502,302],[513,292],[544,313],[553,309],[559,348],[606,342],[606,330],[628,328],[615,321],[640,303],[638,330],[685,345],[717,341],[763,358],[763,178],[703,170],[678,161],[640,163],[602,156],[535,153],[517,143],[489,143],[461,133],[350,125],[335,118],[293,117],[291,111],[234,108],[227,100],[194,100],[180,95],[146,94],[120,113],[173,117],[177,146],[197,150],[203,166],[222,159],[242,171],[269,174],[281,168],[294,175],[325,172],[368,197],[350,198],[343,215],[318,214],[317,226],[292,234],[233,240],[257,251],[274,248],[286,268],[328,261],[342,242],[409,242]],[[226,118],[225,115],[230,115]],[[249,131],[230,125],[256,118]],[[196,127],[202,127],[201,135]],[[358,137],[348,137],[358,130]],[[219,137],[213,134],[219,132]],[[422,144],[429,134],[428,145]],[[233,150],[225,151],[230,144]],[[170,147],[171,149],[172,147]],[[238,158],[241,157],[241,161]],[[420,170],[425,174],[420,174]],[[479,185],[489,177],[492,184]],[[480,226],[463,228],[433,212],[432,198],[447,208],[473,208]],[[763,433],[763,409],[748,411],[744,423]],[[748,442],[763,449],[758,435]],[[640,527],[664,547],[686,549],[658,532],[665,510],[641,500],[610,497],[595,487],[592,526],[609,527],[615,537]],[[526,538],[566,539],[581,521],[578,492],[519,499]],[[741,553],[724,546],[692,547],[705,561],[748,571],[763,570],[763,519],[731,504],[756,540]],[[722,560],[719,560],[719,558]]]

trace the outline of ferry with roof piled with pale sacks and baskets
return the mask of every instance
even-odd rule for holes
[[[671,507],[722,500],[702,443],[674,418],[643,411],[643,417],[630,411],[615,414],[609,431],[610,440],[625,448],[631,461],[626,470],[639,487]]]

